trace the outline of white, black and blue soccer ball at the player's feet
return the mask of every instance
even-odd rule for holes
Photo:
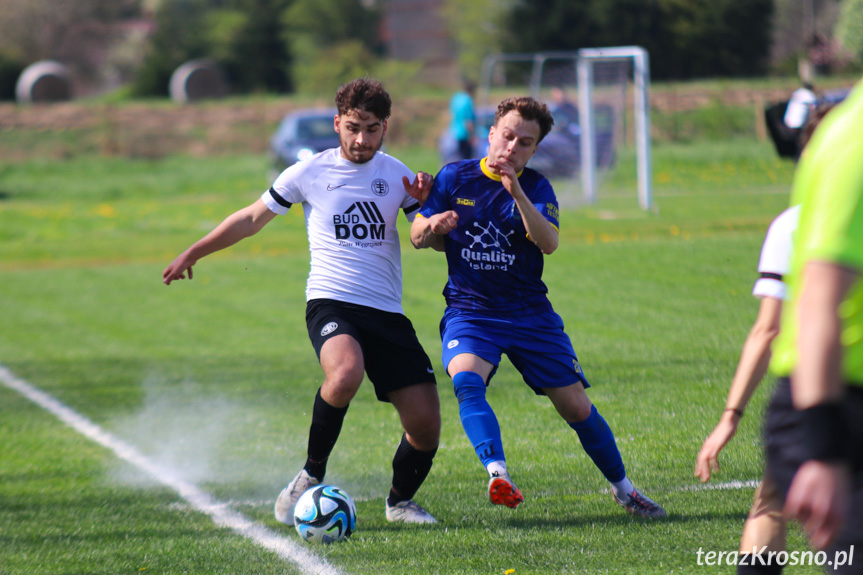
[[[294,508],[294,525],[306,541],[344,541],[357,528],[357,507],[338,487],[318,485],[300,496]]]

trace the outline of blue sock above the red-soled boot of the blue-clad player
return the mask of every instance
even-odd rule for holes
[[[483,465],[505,460],[500,425],[491,406],[485,399],[485,381],[472,371],[462,371],[452,378],[453,389],[458,398],[461,424],[477,457]]]

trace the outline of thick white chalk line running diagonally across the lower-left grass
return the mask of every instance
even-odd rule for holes
[[[189,505],[201,513],[209,515],[220,527],[227,527],[235,533],[251,539],[265,549],[269,549],[279,557],[296,565],[306,575],[341,575],[341,572],[324,559],[310,553],[283,535],[255,523],[241,513],[230,508],[209,493],[199,489],[177,476],[168,469],[138,451],[134,446],[108,433],[74,409],[58,399],[34,387],[32,384],[15,377],[5,366],[0,364],[0,382],[6,387],[17,391],[42,409],[53,413],[63,423],[95,441],[99,445],[113,451],[120,459],[124,459],[152,476],[156,481],[170,487],[185,499]]]

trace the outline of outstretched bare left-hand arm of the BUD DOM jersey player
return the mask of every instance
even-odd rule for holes
[[[216,226],[213,231],[177,256],[177,259],[162,272],[162,282],[165,285],[171,285],[174,280],[186,279],[187,271],[189,279],[192,279],[192,266],[199,259],[230,247],[243,238],[255,235],[275,216],[276,214],[270,211],[260,199],[254,204],[234,212]]]

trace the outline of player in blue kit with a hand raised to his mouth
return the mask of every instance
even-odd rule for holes
[[[507,472],[500,425],[486,400],[505,353],[578,434],[615,501],[636,515],[665,517],[626,477],[614,435],[585,392],[589,384],[542,281],[543,254],[558,245],[557,199],[548,180],[525,166],[553,124],[545,104],[533,98],[501,102],[488,156],[444,166],[411,226],[415,247],[446,252],[443,364],[462,425],[488,470],[492,503],[514,508],[524,501]]]

